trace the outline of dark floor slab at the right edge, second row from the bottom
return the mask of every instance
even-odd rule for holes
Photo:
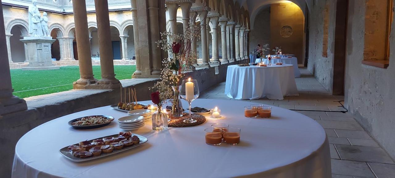
[[[335,144],[341,159],[394,164],[388,154],[378,147]]]

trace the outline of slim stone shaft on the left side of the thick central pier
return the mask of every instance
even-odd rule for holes
[[[140,62],[140,47],[139,47],[139,26],[137,18],[137,2],[136,0],[130,0],[132,4],[132,19],[133,19],[133,37],[134,37],[134,54],[136,56],[136,71],[133,75],[141,75],[141,62]],[[133,77],[132,75],[132,77]]]

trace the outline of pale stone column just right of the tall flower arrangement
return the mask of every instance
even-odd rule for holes
[[[202,55],[202,66],[205,67],[210,67],[209,64],[209,46],[208,46],[208,41],[207,41],[207,24],[206,24],[206,19],[207,19],[207,13],[208,13],[208,7],[205,7],[206,9],[202,9],[201,11],[198,11],[199,13],[199,18],[200,18],[200,37],[201,37],[201,55]]]

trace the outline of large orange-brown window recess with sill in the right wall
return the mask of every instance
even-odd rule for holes
[[[389,35],[393,21],[393,0],[366,0],[365,48],[362,64],[389,66]]]

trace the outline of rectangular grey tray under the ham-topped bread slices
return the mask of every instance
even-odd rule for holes
[[[93,157],[88,157],[88,158],[75,157],[75,156],[73,156],[73,153],[68,150],[69,146],[66,146],[66,147],[60,149],[59,152],[60,152],[60,154],[62,154],[67,159],[70,159],[71,161],[75,161],[75,162],[84,162],[84,161],[90,161],[90,160],[94,160],[94,159],[99,159],[101,157],[106,157],[106,156],[110,156],[110,155],[117,154],[117,153],[120,153],[120,152],[124,152],[126,150],[130,150],[130,149],[135,148],[137,146],[140,146],[141,144],[143,144],[143,143],[148,141],[148,139],[146,137],[143,137],[141,135],[137,135],[137,134],[134,134],[134,133],[132,134],[132,137],[134,135],[139,137],[139,139],[140,139],[140,143],[139,144],[136,144],[136,145],[133,145],[133,146],[129,146],[129,147],[125,147],[125,148],[122,148],[120,150],[115,150],[114,149],[114,151],[111,152],[111,153],[102,153],[99,156],[93,156]],[[118,134],[104,136],[104,137],[118,137]],[[100,138],[97,138],[97,139],[102,139],[104,137],[100,137]],[[92,142],[93,140],[96,140],[96,139],[89,140],[89,142]],[[79,144],[77,143],[77,144],[74,144],[74,145],[79,145]]]

